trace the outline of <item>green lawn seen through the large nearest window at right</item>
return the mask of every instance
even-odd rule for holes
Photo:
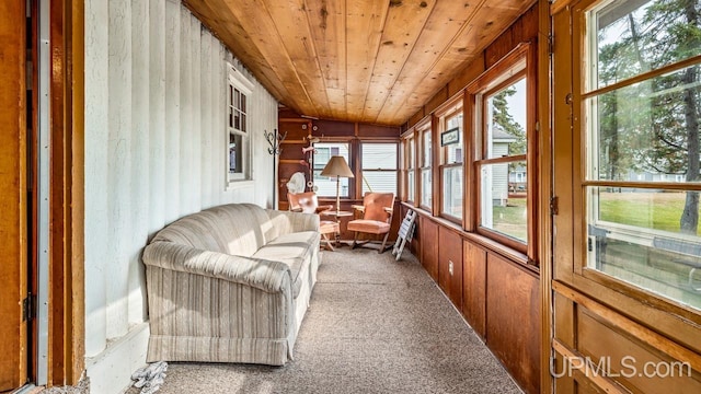
[[[685,199],[683,193],[600,193],[599,217],[614,223],[679,232]],[[701,225],[697,234],[701,234]]]

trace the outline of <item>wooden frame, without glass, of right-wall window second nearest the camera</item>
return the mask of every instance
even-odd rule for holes
[[[519,62],[525,62],[525,66],[521,70],[517,70],[513,72],[512,70],[518,67]],[[508,74],[513,72],[512,74]],[[466,121],[468,123],[468,139],[466,141],[472,141],[474,143],[474,148],[471,149],[471,158],[466,158],[466,160],[470,160],[470,178],[475,185],[471,185],[469,188],[470,199],[474,202],[471,205],[470,209],[470,222],[467,223],[466,228],[474,231],[475,233],[483,235],[485,237],[492,239],[499,244],[505,245],[512,250],[524,253],[528,257],[528,265],[539,266],[539,256],[538,256],[538,218],[539,212],[537,209],[538,204],[538,131],[536,127],[537,119],[537,61],[536,61],[536,48],[531,43],[521,43],[516,48],[514,48],[508,55],[502,58],[498,62],[492,66],[489,70],[484,71],[480,77],[478,77],[472,83],[470,83],[467,89],[467,105],[466,113],[470,114],[470,118]],[[527,108],[526,108],[526,136],[527,136],[527,153],[521,155],[513,155],[506,158],[493,158],[493,159],[483,159],[486,157],[486,139],[484,138],[485,119],[482,116],[482,112],[484,111],[484,102],[492,93],[514,83],[521,78],[526,78],[526,95],[527,95]],[[526,161],[526,165],[528,169],[527,174],[527,184],[528,184],[528,194],[527,194],[527,231],[528,231],[528,242],[521,243],[517,240],[514,240],[505,234],[501,234],[496,231],[483,228],[480,225],[481,222],[481,176],[480,169],[483,165],[489,164],[497,164],[513,161]]]

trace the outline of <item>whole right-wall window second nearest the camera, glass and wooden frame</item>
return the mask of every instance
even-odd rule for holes
[[[474,105],[475,230],[536,262],[533,239],[535,72],[530,45],[521,45],[469,86]]]

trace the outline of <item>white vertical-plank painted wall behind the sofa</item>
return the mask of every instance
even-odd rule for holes
[[[226,184],[226,61],[252,82],[252,181]],[[179,0],[85,1],[85,357],[92,392],[145,362],[140,253],[164,224],[227,202],[272,207],[277,102]],[[146,333],[146,334],[145,334]]]

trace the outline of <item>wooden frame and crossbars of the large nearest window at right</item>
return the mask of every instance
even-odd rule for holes
[[[663,318],[658,321],[660,326],[664,326],[663,333],[671,338],[677,338],[681,341],[687,339],[687,331],[683,328],[685,324],[680,324],[680,321],[694,322],[694,324],[701,324],[701,312],[699,310],[692,310],[681,303],[678,303],[671,298],[658,296],[650,290],[627,281],[620,278],[606,275],[595,268],[587,266],[587,247],[585,245],[587,240],[587,187],[596,186],[614,186],[614,187],[643,187],[643,188],[671,188],[683,190],[698,190],[701,192],[701,185],[693,183],[674,184],[664,182],[627,182],[627,181],[588,181],[586,173],[588,170],[588,163],[586,160],[586,140],[588,138],[587,119],[585,118],[586,109],[585,103],[587,99],[598,96],[608,92],[619,90],[632,85],[634,83],[651,80],[655,77],[668,73],[675,70],[681,70],[690,65],[701,65],[701,56],[697,55],[688,59],[663,66],[658,69],[642,72],[634,77],[623,79],[616,83],[602,86],[593,88],[587,90],[586,88],[586,70],[585,67],[585,50],[586,47],[586,13],[595,8],[601,1],[599,0],[583,0],[574,4],[572,8],[572,62],[573,65],[579,65],[579,67],[573,67],[572,80],[578,81],[574,83],[572,89],[572,118],[575,119],[572,123],[573,137],[572,137],[572,157],[573,157],[573,177],[572,177],[572,201],[574,211],[581,212],[579,221],[575,221],[572,234],[574,242],[572,243],[573,260],[568,266],[558,269],[556,276],[567,279],[575,286],[586,292],[595,292],[604,302],[610,302],[612,304],[619,304],[624,308],[632,316],[639,314],[645,314],[646,308],[654,308],[662,312]],[[578,61],[578,62],[577,62]],[[556,165],[556,163],[555,163]],[[563,276],[563,268],[567,270]],[[621,300],[620,294],[625,294],[628,300]],[[616,301],[613,301],[616,300]],[[644,306],[643,306],[644,305]],[[657,312],[656,312],[657,313]],[[668,321],[670,316],[673,321]]]

